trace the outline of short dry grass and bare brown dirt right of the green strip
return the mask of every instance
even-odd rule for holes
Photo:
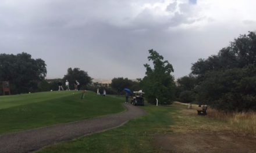
[[[154,137],[158,152],[256,152],[256,137],[234,132],[229,122],[215,117],[197,115],[197,105],[174,103],[178,111],[169,112],[175,121],[173,133],[159,133]],[[210,109],[211,110],[211,109]]]

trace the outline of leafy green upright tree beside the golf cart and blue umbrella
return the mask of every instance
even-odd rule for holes
[[[141,86],[145,92],[145,98],[153,104],[156,98],[159,104],[171,104],[175,86],[174,77],[170,75],[174,71],[172,64],[167,60],[163,61],[163,56],[157,51],[151,49],[148,52],[150,53],[148,60],[152,60],[154,69],[149,64],[144,64],[146,76],[141,81]]]

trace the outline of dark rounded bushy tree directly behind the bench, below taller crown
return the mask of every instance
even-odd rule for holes
[[[211,71],[200,83],[200,97],[223,111],[256,110],[256,65]]]

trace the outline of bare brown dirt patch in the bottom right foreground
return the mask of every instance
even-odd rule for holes
[[[155,136],[155,147],[162,152],[256,152],[256,138],[230,131],[174,133]]]

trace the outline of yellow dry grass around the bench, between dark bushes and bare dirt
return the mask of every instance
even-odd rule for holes
[[[207,116],[200,116],[198,118],[196,109],[198,105],[193,104],[191,110],[187,109],[187,104],[175,102],[174,105],[183,105],[182,114],[190,114],[189,116],[184,116],[182,114],[177,114],[176,121],[180,122],[182,125],[177,126],[180,130],[232,130],[234,132],[244,133],[244,134],[254,134],[256,136],[256,112],[221,112],[215,109],[207,109]],[[211,122],[208,122],[211,121]],[[189,123],[188,123],[189,122]],[[202,123],[202,124],[201,124]],[[177,122],[177,124],[179,124]],[[188,127],[188,128],[186,128]],[[182,129],[184,128],[184,129]]]

